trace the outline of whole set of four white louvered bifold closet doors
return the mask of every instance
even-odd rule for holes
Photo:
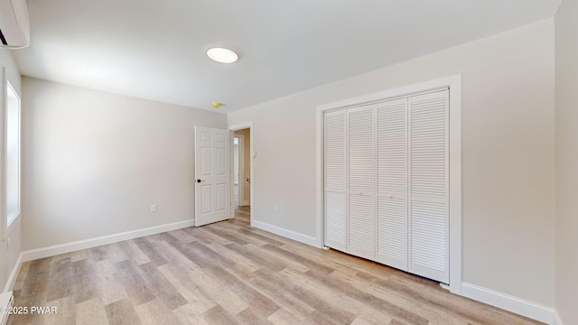
[[[449,89],[323,125],[324,245],[449,283]]]

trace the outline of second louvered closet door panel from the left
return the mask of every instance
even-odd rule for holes
[[[348,250],[375,259],[374,107],[348,109],[349,223]]]

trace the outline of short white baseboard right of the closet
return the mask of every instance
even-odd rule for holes
[[[484,302],[491,306],[517,313],[518,315],[526,316],[532,320],[559,325],[555,322],[555,309],[536,302],[530,302],[471,283],[461,283],[461,295],[478,302]]]

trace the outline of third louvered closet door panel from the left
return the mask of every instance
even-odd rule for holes
[[[378,103],[379,263],[407,271],[407,98]]]

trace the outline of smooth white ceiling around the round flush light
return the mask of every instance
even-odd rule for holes
[[[229,113],[552,17],[560,0],[28,0],[24,76]],[[209,60],[225,44],[240,60]]]

